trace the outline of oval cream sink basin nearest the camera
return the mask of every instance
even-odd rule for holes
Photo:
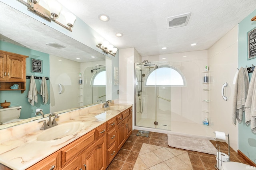
[[[37,137],[37,141],[51,141],[62,139],[69,135],[75,135],[76,132],[80,131],[83,127],[83,123],[73,122],[64,123],[62,125],[56,125],[44,130]]]

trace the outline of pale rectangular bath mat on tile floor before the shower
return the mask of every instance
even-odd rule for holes
[[[208,139],[168,134],[168,145],[174,148],[216,154],[217,150]]]

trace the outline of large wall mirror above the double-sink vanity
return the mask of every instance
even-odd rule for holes
[[[42,108],[45,114],[63,113],[111,99],[111,96],[106,96],[106,91],[111,92],[111,84],[108,82],[112,82],[112,80],[108,81],[107,79],[112,77],[106,77],[109,75],[106,71],[112,70],[111,59],[110,63],[106,63],[106,58],[108,60],[109,58],[102,53],[2,2],[0,2],[0,16],[2,18],[0,50],[12,53],[19,53],[21,50],[22,55],[29,53],[29,58],[26,59],[26,75],[48,76],[47,84],[50,93],[50,99],[46,105],[39,100],[35,106],[31,106],[27,98],[30,79],[26,80],[24,94],[21,94],[20,91],[0,91],[0,102],[7,100],[7,102],[11,102],[11,106],[22,106],[20,118],[23,119],[15,123],[2,124],[0,129],[40,119],[40,116],[35,117],[34,115],[37,108]],[[46,45],[53,42],[63,45],[65,48],[58,49]],[[41,53],[44,53],[45,56]],[[43,60],[42,74],[30,72],[31,58]],[[80,58],[80,60],[76,58]],[[40,83],[40,80],[36,80],[38,90],[40,90]],[[60,86],[61,94],[59,93]]]

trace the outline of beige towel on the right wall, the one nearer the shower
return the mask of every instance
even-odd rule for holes
[[[236,84],[234,89],[233,98],[233,110],[232,110],[232,123],[236,124],[242,122],[244,105],[249,88],[249,76],[247,68],[241,67],[236,78]]]

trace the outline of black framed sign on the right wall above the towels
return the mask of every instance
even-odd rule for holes
[[[256,28],[248,32],[248,58],[247,60],[256,57]]]

